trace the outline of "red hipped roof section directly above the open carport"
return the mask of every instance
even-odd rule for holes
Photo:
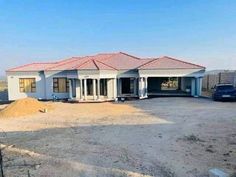
[[[205,67],[164,56],[144,63],[138,69],[205,69]]]

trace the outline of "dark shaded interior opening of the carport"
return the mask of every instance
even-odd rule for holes
[[[181,77],[149,77],[148,95],[188,95],[190,94],[191,80]]]

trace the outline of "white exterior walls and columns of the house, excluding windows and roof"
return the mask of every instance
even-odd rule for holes
[[[191,95],[201,95],[201,77],[204,70],[196,69],[174,69],[174,70],[123,70],[123,71],[97,71],[97,70],[83,70],[83,71],[45,71],[45,72],[8,72],[8,91],[9,100],[17,100],[25,97],[34,97],[41,99],[52,99],[52,95],[60,99],[69,98],[69,93],[54,93],[53,92],[53,78],[66,77],[73,79],[73,95],[76,99],[81,99],[81,79],[108,79],[107,93],[108,98],[116,98],[121,95],[121,82],[119,78],[136,78],[135,90],[138,90],[140,97],[145,97],[145,89],[147,83],[144,78],[148,77],[184,77],[181,83],[181,89],[185,90],[187,86],[191,86]],[[36,92],[35,93],[20,93],[19,79],[20,78],[35,78]],[[195,78],[197,79],[195,81]],[[80,80],[79,80],[80,79]],[[137,96],[137,92],[132,96]]]

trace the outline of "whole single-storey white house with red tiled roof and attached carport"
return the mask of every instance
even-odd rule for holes
[[[123,52],[31,63],[6,71],[9,100],[57,97],[77,101],[199,96],[204,72],[203,66],[167,56],[141,59]]]

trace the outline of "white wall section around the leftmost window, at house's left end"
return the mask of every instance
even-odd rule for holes
[[[21,93],[19,82],[20,78],[35,78],[36,92]],[[18,100],[26,97],[45,99],[45,77],[43,72],[8,72],[7,81],[9,100]]]

